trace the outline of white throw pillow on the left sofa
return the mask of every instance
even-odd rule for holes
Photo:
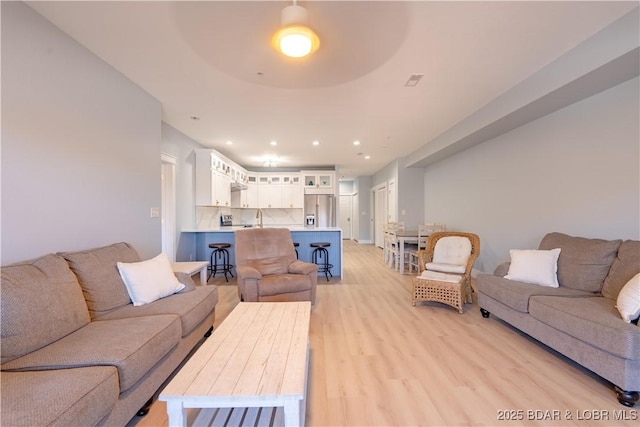
[[[117,266],[129,297],[136,307],[149,304],[184,288],[173,273],[171,262],[165,253],[142,262],[119,262]]]

